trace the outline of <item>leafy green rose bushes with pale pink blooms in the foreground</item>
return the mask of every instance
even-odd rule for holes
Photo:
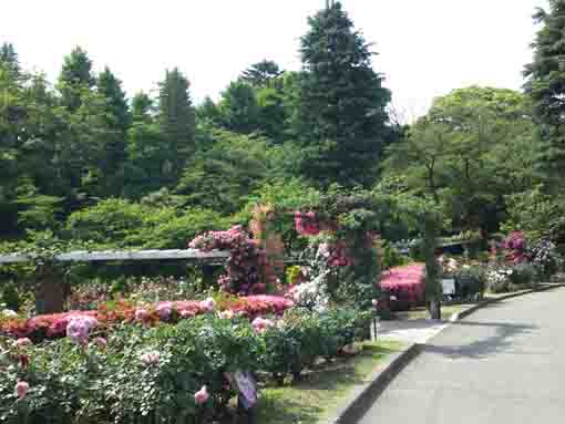
[[[2,420],[214,422],[236,394],[235,372],[296,376],[318,356],[343,354],[368,328],[366,314],[350,309],[292,309],[253,323],[210,312],[177,324],[121,325],[102,339],[93,320],[40,345],[0,338]]]

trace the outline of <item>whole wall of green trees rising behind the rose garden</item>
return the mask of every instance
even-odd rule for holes
[[[525,94],[454,90],[413,123],[389,118],[371,46],[338,1],[309,19],[299,72],[263,60],[197,105],[176,68],[127,99],[80,46],[51,85],[4,43],[0,234],[183,247],[198,230],[245,223],[255,201],[291,208],[338,183],[429,198],[448,229],[564,239],[565,2],[549,4],[536,15]],[[381,234],[407,237],[389,218]]]

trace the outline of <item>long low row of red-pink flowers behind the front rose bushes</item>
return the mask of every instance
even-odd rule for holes
[[[259,316],[281,316],[285,310],[292,307],[286,298],[276,296],[249,296],[246,298],[227,298],[206,301],[174,301],[160,302],[151,308],[142,308],[117,302],[104,304],[95,311],[70,311],[64,313],[37,316],[30,319],[8,318],[0,320],[0,333],[13,338],[31,338],[35,341],[56,339],[65,335],[66,327],[73,318],[93,317],[104,332],[122,322],[141,321],[145,325],[154,325],[161,321],[178,322],[203,313],[216,311],[230,311],[234,314],[255,319]]]

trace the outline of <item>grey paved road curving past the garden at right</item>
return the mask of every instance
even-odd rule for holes
[[[493,303],[445,329],[360,424],[564,424],[565,289]]]

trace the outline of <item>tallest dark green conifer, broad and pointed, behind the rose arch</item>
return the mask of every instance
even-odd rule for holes
[[[373,53],[335,2],[308,20],[301,39],[300,133],[304,173],[320,185],[371,185],[390,128],[389,90]]]

